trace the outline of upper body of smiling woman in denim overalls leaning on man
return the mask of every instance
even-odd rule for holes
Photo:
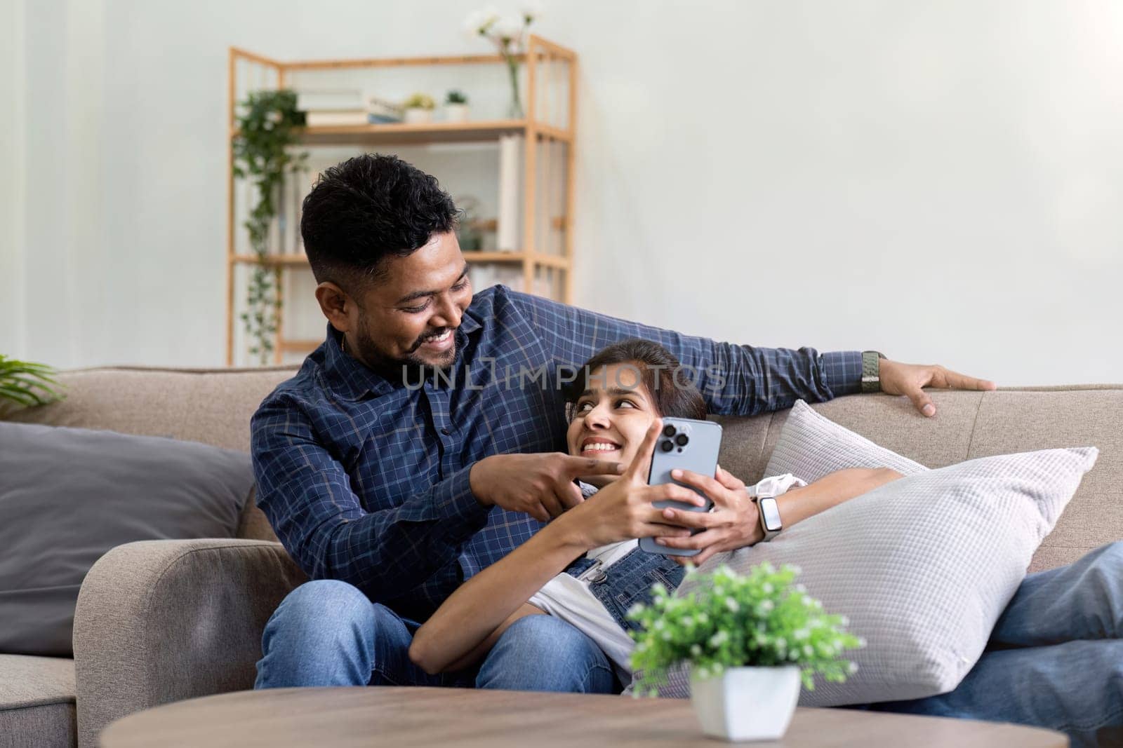
[[[702,395],[675,376],[678,368],[666,349],[642,340],[610,345],[590,359],[585,377],[566,393],[569,454],[614,460],[628,469],[617,478],[579,482],[586,501],[450,595],[414,634],[414,664],[429,673],[468,667],[519,618],[553,615],[601,647],[615,669],[618,690],[631,681],[632,641],[627,631],[634,624],[626,611],[647,602],[655,582],[675,588],[684,573],[674,556],[640,551],[636,538],[690,535],[668,524],[672,512],[655,508],[652,501],[704,504],[682,486],[647,484],[660,417],[705,417]],[[786,527],[900,477],[887,469],[851,469],[810,486],[792,475],[770,480],[782,488],[796,486],[777,500]],[[745,483],[721,467],[714,480],[745,490]],[[759,539],[759,527],[756,533]]]

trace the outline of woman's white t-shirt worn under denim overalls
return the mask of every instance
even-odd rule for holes
[[[773,495],[778,496],[792,486],[806,486],[806,483],[792,473],[786,473],[765,478],[752,488],[757,492],[767,488]],[[582,493],[591,496],[591,492],[586,491],[587,489],[583,484]],[[560,618],[595,641],[596,646],[612,661],[617,677],[626,686],[631,683],[631,652],[636,643],[632,641],[627,631],[620,628],[620,625],[605,610],[601,601],[593,595],[588,589],[590,582],[585,578],[596,571],[608,570],[638,545],[639,541],[621,541],[593,548],[587,556],[600,560],[599,565],[585,571],[579,578],[562,572],[528,600],[539,610]]]

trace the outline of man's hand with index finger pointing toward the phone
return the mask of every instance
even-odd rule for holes
[[[622,463],[563,452],[493,454],[472,465],[468,483],[485,507],[500,506],[549,521],[582,502],[575,478],[619,475]]]

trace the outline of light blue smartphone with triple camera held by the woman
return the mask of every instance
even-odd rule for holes
[[[678,468],[691,470],[713,478],[718,470],[718,452],[721,451],[721,426],[712,421],[694,421],[693,418],[664,418],[663,433],[655,443],[655,454],[651,456],[651,472],[647,477],[648,486],[661,483],[678,483],[691,489],[703,499],[705,506],[697,507],[682,501],[656,501],[659,509],[672,507],[686,511],[710,511],[713,501],[693,486],[672,479],[670,471]],[[695,530],[694,534],[704,530]],[[696,556],[701,551],[668,548],[655,542],[654,537],[641,537],[639,547],[648,553],[661,553],[667,556]]]

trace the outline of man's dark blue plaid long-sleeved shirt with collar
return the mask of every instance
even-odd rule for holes
[[[505,286],[473,297],[456,336],[450,376],[435,380],[427,368],[418,386],[344,353],[329,325],[327,341],[252,423],[257,506],[296,563],[312,579],[349,582],[418,619],[542,527],[481,506],[468,471],[490,454],[567,451],[559,385],[573,375],[565,367],[577,369],[605,345],[659,342],[697,372],[716,414],[861,389],[857,351],[718,343]]]

